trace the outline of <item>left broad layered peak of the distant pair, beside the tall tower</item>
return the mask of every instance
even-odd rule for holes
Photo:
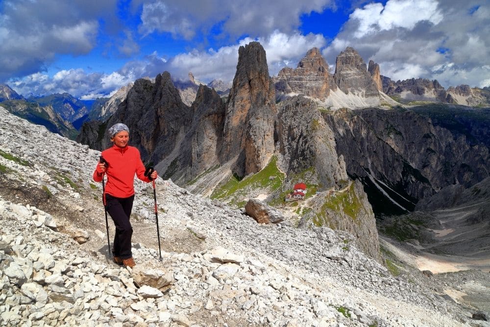
[[[318,48],[308,50],[296,69],[283,68],[275,79],[278,93],[296,93],[324,100],[330,95],[330,88],[336,88],[329,81],[328,64]]]

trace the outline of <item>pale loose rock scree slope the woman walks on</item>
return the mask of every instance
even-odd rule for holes
[[[122,268],[91,178],[100,152],[0,117],[0,326],[490,326],[436,276],[393,277],[348,233],[257,224],[161,178],[162,260],[138,181],[137,265]]]

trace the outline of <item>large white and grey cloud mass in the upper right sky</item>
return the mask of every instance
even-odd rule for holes
[[[348,46],[394,80],[429,78],[444,87],[480,86],[489,79],[482,68],[490,57],[489,6],[477,0],[369,3],[354,10],[322,53],[333,62]]]

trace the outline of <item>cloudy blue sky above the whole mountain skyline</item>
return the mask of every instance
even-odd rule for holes
[[[137,78],[233,79],[259,41],[270,75],[346,47],[394,80],[490,86],[489,0],[0,0],[0,83],[18,93],[113,94]]]

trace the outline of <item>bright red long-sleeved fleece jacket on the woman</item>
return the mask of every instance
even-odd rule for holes
[[[135,147],[126,146],[119,148],[113,145],[112,148],[102,151],[102,157],[109,163],[106,167],[107,183],[105,193],[116,198],[128,198],[134,194],[134,174],[139,179],[150,182],[145,176],[145,166],[141,161],[140,151]],[[102,175],[96,170],[93,175],[94,181],[102,181]]]

